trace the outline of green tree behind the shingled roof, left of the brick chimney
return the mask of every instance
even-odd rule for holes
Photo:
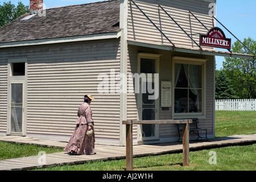
[[[17,7],[15,7],[11,1],[3,2],[3,5],[0,5],[0,27],[18,18],[20,15],[27,13],[28,11],[29,6],[24,6],[21,1],[18,2]]]

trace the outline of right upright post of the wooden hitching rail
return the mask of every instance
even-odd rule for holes
[[[183,124],[183,166],[189,166],[189,121]]]

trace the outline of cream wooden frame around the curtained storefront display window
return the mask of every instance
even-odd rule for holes
[[[208,59],[196,59],[191,57],[172,57],[172,80],[175,80],[175,63],[192,64],[202,66],[202,112],[201,113],[175,113],[175,82],[172,81],[172,118],[206,118],[206,64]]]

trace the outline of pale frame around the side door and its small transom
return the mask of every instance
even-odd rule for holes
[[[25,75],[13,76],[12,64],[25,63]],[[27,134],[27,58],[8,59],[7,62],[7,134],[26,135]],[[11,84],[23,84],[23,118],[22,133],[11,132]]]

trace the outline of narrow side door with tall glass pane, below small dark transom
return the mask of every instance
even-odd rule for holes
[[[24,81],[10,81],[9,134],[24,134]]]

